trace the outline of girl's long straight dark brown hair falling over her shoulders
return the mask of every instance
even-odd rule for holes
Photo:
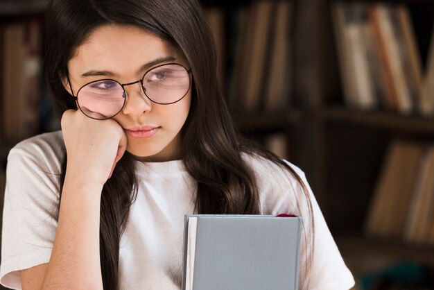
[[[53,106],[61,116],[77,109],[62,85],[67,62],[89,34],[105,24],[134,25],[180,49],[193,71],[189,117],[181,131],[186,170],[198,182],[196,210],[200,214],[260,214],[257,181],[241,153],[272,160],[292,173],[285,162],[268,151],[243,142],[236,135],[216,76],[214,42],[196,0],[53,0],[46,9],[45,67]],[[60,185],[66,171],[63,162]],[[119,289],[119,241],[137,195],[134,162],[125,154],[101,196],[100,259],[104,289]],[[306,219],[305,219],[306,222]],[[310,231],[311,232],[311,231]],[[310,235],[313,243],[313,235]],[[311,247],[312,248],[312,247]],[[309,253],[312,253],[309,250]]]

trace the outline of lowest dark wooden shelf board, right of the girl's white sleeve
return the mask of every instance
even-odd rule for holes
[[[338,236],[336,244],[351,273],[356,277],[403,261],[434,266],[434,247],[418,247],[402,242],[354,236]]]

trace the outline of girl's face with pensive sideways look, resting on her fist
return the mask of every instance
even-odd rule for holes
[[[69,60],[69,80],[76,95],[80,87],[95,80],[110,78],[121,84],[133,83],[149,69],[165,63],[189,69],[181,51],[141,28],[101,26]],[[71,93],[67,81],[65,88]],[[160,105],[146,97],[140,83],[124,89],[126,103],[112,119],[128,136],[127,151],[139,160],[179,159],[180,130],[189,114],[191,91],[176,103]]]

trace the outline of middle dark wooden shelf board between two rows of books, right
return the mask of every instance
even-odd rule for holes
[[[406,117],[391,112],[361,112],[347,108],[328,108],[322,116],[329,123],[345,123],[399,133],[434,135],[434,119]]]

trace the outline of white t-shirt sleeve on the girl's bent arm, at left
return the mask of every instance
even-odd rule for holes
[[[21,289],[20,270],[49,262],[58,223],[58,157],[39,141],[8,155],[0,282],[12,289]]]

